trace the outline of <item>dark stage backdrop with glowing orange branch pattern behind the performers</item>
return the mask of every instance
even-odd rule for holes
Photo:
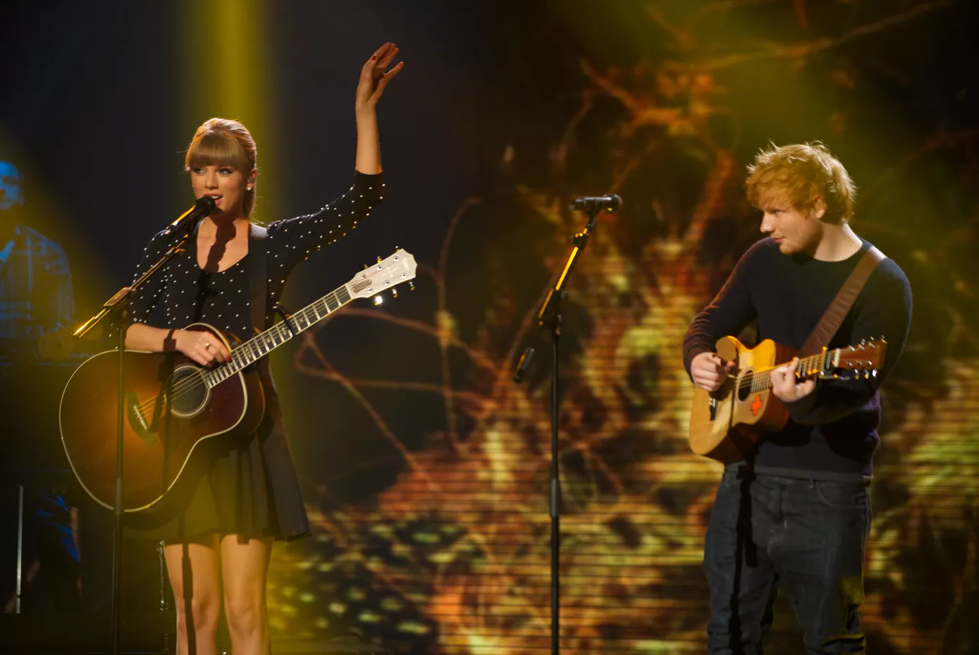
[[[314,525],[276,546],[277,640],[546,651],[550,362],[533,318],[583,226],[569,199],[616,192],[564,323],[562,648],[702,652],[720,473],[686,446],[680,342],[760,236],[745,164],[769,140],[819,139],[860,187],[855,229],[915,301],[884,394],[867,640],[979,648],[971,2],[38,4],[0,27],[0,129],[80,314],[190,205],[179,151],[197,124],[253,127],[262,219],[311,211],[350,184],[359,65],[385,40],[407,62],[380,110],[384,206],[287,295],[301,306],[395,246],[421,264],[417,291],[273,359]],[[797,651],[779,610],[770,649]]]

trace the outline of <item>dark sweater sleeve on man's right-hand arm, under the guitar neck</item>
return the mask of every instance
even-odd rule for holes
[[[908,278],[892,260],[880,266],[882,270],[874,272],[863,288],[858,305],[851,310],[856,315],[850,335],[852,343],[883,338],[887,342],[883,365],[877,375],[866,379],[819,381],[814,393],[786,402],[789,416],[796,423],[832,423],[857,411],[873,398],[901,357],[910,328],[911,289]]]

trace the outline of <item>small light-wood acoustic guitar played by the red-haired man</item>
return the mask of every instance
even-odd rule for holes
[[[887,342],[862,341],[799,359],[798,380],[840,378],[841,372],[869,378],[884,362]],[[789,363],[793,349],[767,339],[753,349],[734,337],[723,337],[717,352],[734,362],[730,376],[713,394],[694,390],[690,411],[690,449],[723,463],[742,459],[766,432],[778,432],[789,419],[785,405],[771,394],[771,371]]]

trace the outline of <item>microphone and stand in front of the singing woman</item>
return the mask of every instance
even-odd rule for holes
[[[211,205],[212,207],[212,205]],[[175,246],[170,248],[160,257],[155,264],[150,266],[149,269],[142,275],[140,275],[131,286],[122,287],[116,294],[106,301],[102,305],[102,309],[99,313],[95,314],[87,321],[81,324],[81,326],[71,333],[72,337],[76,340],[80,340],[85,334],[88,333],[93,327],[99,324],[104,318],[109,317],[109,321],[112,327],[117,330],[117,349],[118,349],[118,397],[117,397],[117,431],[116,431],[116,499],[113,503],[113,514],[114,514],[114,539],[113,539],[113,595],[112,595],[112,655],[118,655],[119,652],[119,629],[121,628],[121,592],[122,592],[122,441],[123,435],[125,433],[125,392],[123,385],[125,384],[125,333],[126,333],[126,309],[129,306],[129,300],[132,295],[139,289],[143,284],[149,280],[153,275],[160,270],[164,263],[166,263],[170,257],[183,252],[183,246],[187,243],[187,239],[190,238],[191,233],[194,231],[193,227],[197,225],[198,221],[201,219],[200,215],[194,214],[192,211],[187,211],[182,216],[177,218],[170,224],[169,230],[171,232],[177,230],[177,228],[187,227],[184,234],[180,237],[180,241],[177,242]]]

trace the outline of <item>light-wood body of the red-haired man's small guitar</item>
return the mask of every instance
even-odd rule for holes
[[[723,463],[742,459],[765,432],[785,426],[789,413],[770,389],[752,391],[756,370],[788,361],[794,351],[767,339],[753,349],[734,337],[717,343],[718,354],[733,361],[731,377],[713,394],[696,388],[690,412],[690,449]]]

